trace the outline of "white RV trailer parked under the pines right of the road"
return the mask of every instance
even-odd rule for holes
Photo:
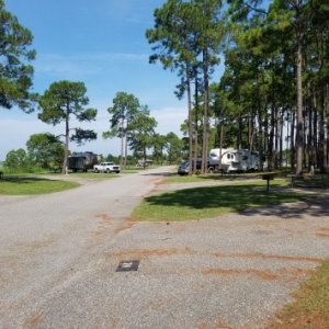
[[[260,169],[260,158],[248,149],[214,148],[209,151],[209,164],[224,172],[254,171]]]

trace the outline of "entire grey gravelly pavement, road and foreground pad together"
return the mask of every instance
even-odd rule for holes
[[[0,196],[0,328],[264,328],[329,257],[326,196],[189,223],[131,222],[170,170]],[[131,260],[137,271],[116,272]]]

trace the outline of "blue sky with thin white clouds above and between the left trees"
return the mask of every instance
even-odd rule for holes
[[[54,81],[82,81],[90,106],[99,111],[89,128],[98,140],[72,151],[91,150],[118,155],[117,139],[102,138],[109,129],[106,109],[118,91],[135,94],[149,106],[158,121],[157,132],[180,134],[186,117],[186,101],[174,97],[179,79],[160,64],[148,64],[151,46],[145,32],[154,26],[154,10],[164,0],[4,0],[5,9],[16,15],[33,36],[34,91],[43,93]],[[34,133],[61,134],[37,120],[37,112],[0,109],[0,160],[11,149],[25,148]]]

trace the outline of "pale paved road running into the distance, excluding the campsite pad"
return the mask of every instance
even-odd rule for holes
[[[155,188],[158,173],[141,171],[48,195],[0,196],[0,328],[34,325],[45,305],[83,284],[100,254],[131,225],[128,215]],[[73,327],[80,326],[83,318]]]

